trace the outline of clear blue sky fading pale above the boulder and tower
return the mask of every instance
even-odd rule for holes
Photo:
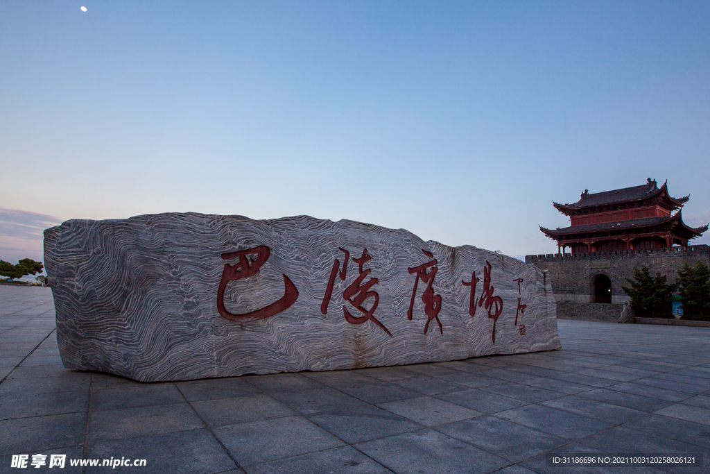
[[[708,223],[709,158],[706,1],[0,3],[13,263],[63,220],[187,211],[553,253],[585,189],[668,180]]]

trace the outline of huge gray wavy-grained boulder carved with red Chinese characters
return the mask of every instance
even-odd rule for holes
[[[349,252],[344,274],[339,248]],[[361,258],[364,249],[371,259]],[[69,220],[45,230],[45,268],[65,367],[140,381],[560,348],[552,286],[540,269],[349,220],[195,213]],[[474,271],[471,316],[464,281]],[[222,313],[236,321],[220,314],[221,283]]]

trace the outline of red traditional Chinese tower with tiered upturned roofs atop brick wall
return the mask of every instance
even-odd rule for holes
[[[687,247],[708,226],[693,228],[684,224],[681,210],[684,198],[668,195],[667,181],[659,188],[648,178],[644,185],[604,193],[584,190],[574,204],[555,208],[569,216],[570,226],[540,230],[557,241],[557,253],[569,247],[572,254],[618,252],[621,250],[657,250],[673,245]]]

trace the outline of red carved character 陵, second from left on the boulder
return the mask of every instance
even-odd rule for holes
[[[320,312],[323,314],[328,313],[328,305],[330,303],[330,298],[333,294],[335,278],[339,276],[342,281],[345,281],[346,279],[347,265],[348,259],[350,257],[350,252],[348,252],[346,249],[342,249],[340,247],[338,248],[341,252],[344,253],[343,267],[340,271],[338,271],[340,269],[340,261],[338,259],[335,259],[335,261],[333,262],[333,268],[330,271],[328,286],[325,289],[325,296],[323,297],[323,301],[320,305]],[[354,306],[356,310],[363,313],[364,316],[353,316],[345,306],[343,306],[343,315],[345,316],[345,321],[350,324],[362,324],[366,321],[372,321],[373,323],[378,325],[379,328],[385,331],[387,335],[392,337],[392,334],[387,330],[385,325],[378,321],[377,318],[375,318],[374,316],[375,310],[377,309],[377,305],[380,301],[380,296],[376,291],[371,291],[371,288],[372,286],[378,284],[379,280],[376,278],[371,278],[363,284],[364,279],[366,279],[371,272],[371,269],[364,269],[363,266],[371,259],[372,257],[367,254],[367,249],[364,249],[362,251],[362,256],[359,259],[352,259],[353,262],[358,264],[359,274],[355,281],[353,281],[352,284],[350,284],[343,291],[343,299],[345,299],[352,306]],[[366,309],[364,306],[364,303],[368,298],[375,298],[370,309]]]

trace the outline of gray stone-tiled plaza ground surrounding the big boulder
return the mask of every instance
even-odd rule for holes
[[[577,473],[545,453],[702,454],[710,329],[558,321],[562,350],[138,383],[62,367],[49,289],[0,286],[0,473]],[[63,469],[11,468],[65,454]],[[146,459],[71,467],[70,459]]]

